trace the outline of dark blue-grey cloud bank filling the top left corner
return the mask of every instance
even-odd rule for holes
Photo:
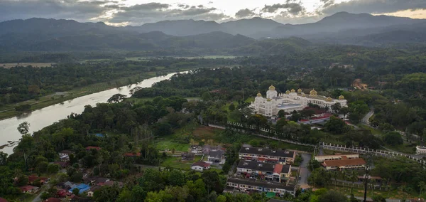
[[[0,21],[18,18],[72,18],[77,21],[91,21],[111,11],[118,1],[78,1],[78,0],[1,0]]]

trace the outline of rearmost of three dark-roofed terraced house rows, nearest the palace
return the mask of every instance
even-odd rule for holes
[[[268,149],[258,147],[241,147],[239,159],[261,161],[268,163],[290,164],[295,161],[295,151]]]

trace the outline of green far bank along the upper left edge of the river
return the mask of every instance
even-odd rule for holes
[[[176,70],[161,70],[161,71],[151,71],[146,73],[138,73],[136,75],[132,75],[129,77],[117,78],[115,80],[111,80],[103,83],[94,83],[92,85],[87,85],[84,87],[76,87],[73,90],[69,90],[66,92],[55,92],[50,95],[45,95],[43,97],[39,97],[38,100],[26,100],[23,102],[14,103],[11,105],[4,105],[0,107],[0,120],[11,118],[11,117],[19,117],[25,116],[26,114],[23,112],[18,112],[15,110],[15,107],[18,105],[31,105],[31,112],[35,110],[40,110],[44,107],[48,107],[50,105],[56,105],[68,100],[73,100],[77,97],[82,97],[84,95],[90,95],[92,93],[101,92],[104,90],[113,89],[116,87],[121,87],[123,85],[131,85],[141,82],[142,80],[153,78],[158,75],[166,75],[168,73],[175,73],[177,71],[185,71],[191,70],[192,68],[180,68]],[[28,113],[31,113],[28,112]]]

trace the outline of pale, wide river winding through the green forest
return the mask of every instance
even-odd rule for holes
[[[187,73],[182,72],[182,73]],[[71,115],[72,112],[80,114],[84,110],[86,105],[96,105],[99,102],[107,102],[109,97],[117,93],[130,96],[130,90],[133,87],[151,87],[154,83],[168,80],[176,73],[170,73],[165,76],[158,76],[154,78],[148,78],[143,80],[138,84],[126,85],[119,88],[114,88],[110,90],[104,90],[101,92],[96,92],[90,95],[84,95],[82,97],[77,97],[73,100],[67,100],[60,104],[51,105],[44,107],[40,110],[35,110],[28,115],[23,117],[12,117],[9,119],[3,119],[0,121],[0,146],[4,144],[9,144],[9,142],[16,142],[21,138],[21,134],[16,129],[19,124],[22,122],[30,123],[30,131],[35,132],[43,127],[47,127],[54,122],[58,122],[60,119],[65,119],[68,115]],[[9,142],[8,142],[9,141]],[[17,143],[17,142],[16,142]],[[3,151],[7,154],[13,153],[13,147],[16,144],[11,144],[9,147],[4,147],[0,151]]]

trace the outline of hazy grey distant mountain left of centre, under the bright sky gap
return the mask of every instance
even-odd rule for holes
[[[190,36],[213,31],[223,31],[222,26],[215,21],[194,20],[159,21],[157,23],[146,23],[142,26],[128,26],[126,28],[140,33],[161,31],[173,36]]]

